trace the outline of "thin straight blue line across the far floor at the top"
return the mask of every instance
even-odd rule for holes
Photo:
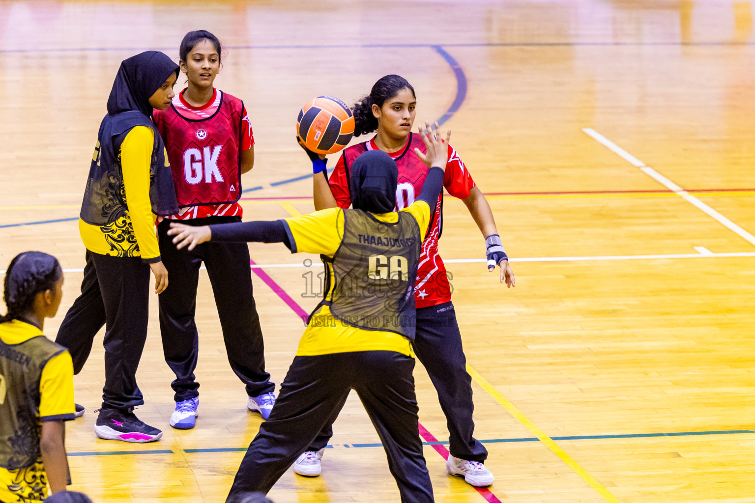
[[[469,42],[442,44],[449,48],[551,48],[551,47],[644,47],[644,46],[691,46],[691,47],[742,47],[755,45],[752,41],[658,41],[658,42]],[[381,49],[381,48],[433,48],[438,44],[313,44],[313,45],[232,45],[226,49]],[[106,51],[174,51],[166,48],[47,48],[47,49],[3,49],[0,54],[45,54]]]

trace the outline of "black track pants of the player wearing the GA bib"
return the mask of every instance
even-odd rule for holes
[[[267,493],[341,412],[356,390],[380,436],[403,503],[433,501],[418,432],[414,360],[394,351],[297,356],[270,419],[260,425],[233,480],[227,501]]]

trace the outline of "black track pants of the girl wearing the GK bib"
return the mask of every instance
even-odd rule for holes
[[[211,216],[183,220],[186,225],[240,222],[238,216]],[[194,314],[199,267],[205,262],[217,315],[223,330],[231,369],[246,385],[250,397],[275,390],[265,372],[264,344],[260,317],[254,303],[246,243],[202,243],[194,250],[177,250],[167,232],[171,221],[157,228],[162,262],[168,269],[168,288],[160,294],[160,333],[168,367],[176,375],[171,383],[176,401],[199,395],[194,370],[199,353],[199,334]]]

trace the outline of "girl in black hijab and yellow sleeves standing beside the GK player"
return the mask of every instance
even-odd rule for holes
[[[106,325],[105,385],[94,431],[106,440],[151,442],[162,431],[134,416],[144,403],[136,371],[146,341],[149,271],[156,293],[168,286],[155,234],[156,216],[177,213],[171,167],[152,121],[174,97],[178,66],[158,51],[128,58],[112,84],[86,184],[79,232],[87,248],[82,295],[56,342],[79,373]],[[79,415],[84,408],[77,406]]]

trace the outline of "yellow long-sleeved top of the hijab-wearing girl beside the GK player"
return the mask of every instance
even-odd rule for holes
[[[141,257],[144,262],[160,262],[156,216],[149,202],[149,166],[154,141],[155,133],[145,126],[134,126],[126,135],[120,158],[123,173],[121,195],[128,209],[124,216],[107,225],[91,225],[79,219],[79,234],[87,250],[100,255]]]

